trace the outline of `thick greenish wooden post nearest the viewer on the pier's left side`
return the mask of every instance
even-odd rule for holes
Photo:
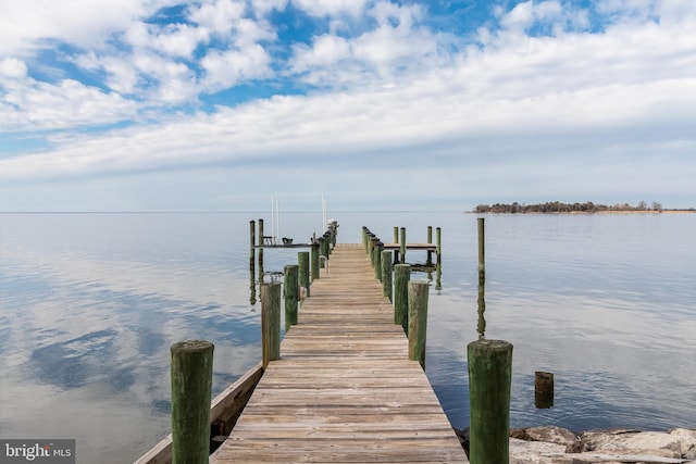
[[[171,347],[173,464],[208,463],[213,349],[203,340]]]

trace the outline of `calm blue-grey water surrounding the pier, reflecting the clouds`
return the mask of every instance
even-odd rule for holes
[[[76,438],[80,463],[132,462],[169,431],[169,347],[215,343],[214,393],[254,365],[249,221],[269,214],[0,214],[0,437]],[[426,372],[469,423],[476,216],[343,213],[386,240],[443,228]],[[307,241],[321,214],[282,214]],[[512,426],[696,428],[696,214],[486,217],[487,338],[514,346]],[[297,250],[266,251],[266,271]],[[423,261],[412,252],[409,261]],[[534,372],[556,378],[534,407]]]

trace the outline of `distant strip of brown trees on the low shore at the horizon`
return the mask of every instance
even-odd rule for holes
[[[662,204],[654,201],[648,205],[645,201],[631,205],[629,203],[617,204],[596,204],[592,201],[584,203],[562,203],[560,201],[547,201],[546,203],[520,204],[514,203],[495,203],[478,204],[474,209],[474,213],[599,213],[602,211],[662,211]]]

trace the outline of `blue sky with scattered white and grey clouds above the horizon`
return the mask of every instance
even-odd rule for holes
[[[693,0],[0,0],[0,211],[696,206]]]

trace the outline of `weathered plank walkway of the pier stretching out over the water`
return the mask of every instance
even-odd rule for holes
[[[210,462],[468,462],[362,246],[336,246]]]

